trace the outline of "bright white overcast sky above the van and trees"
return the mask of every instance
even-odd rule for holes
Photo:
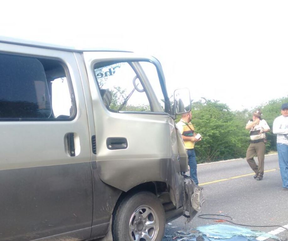
[[[170,95],[251,110],[288,96],[288,1],[5,1],[0,35],[156,57]]]

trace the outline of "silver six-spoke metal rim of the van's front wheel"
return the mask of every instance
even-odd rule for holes
[[[139,206],[129,222],[131,241],[154,241],[159,231],[159,219],[149,205]]]

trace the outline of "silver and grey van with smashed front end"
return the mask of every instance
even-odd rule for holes
[[[154,57],[0,38],[0,240],[160,241],[204,201],[188,111]]]

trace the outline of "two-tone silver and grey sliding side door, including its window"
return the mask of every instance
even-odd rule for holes
[[[89,238],[90,137],[74,55],[0,50],[0,240]]]

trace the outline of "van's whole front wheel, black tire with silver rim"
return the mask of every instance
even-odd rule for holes
[[[161,241],[165,231],[165,212],[151,192],[125,197],[113,214],[114,241]]]

